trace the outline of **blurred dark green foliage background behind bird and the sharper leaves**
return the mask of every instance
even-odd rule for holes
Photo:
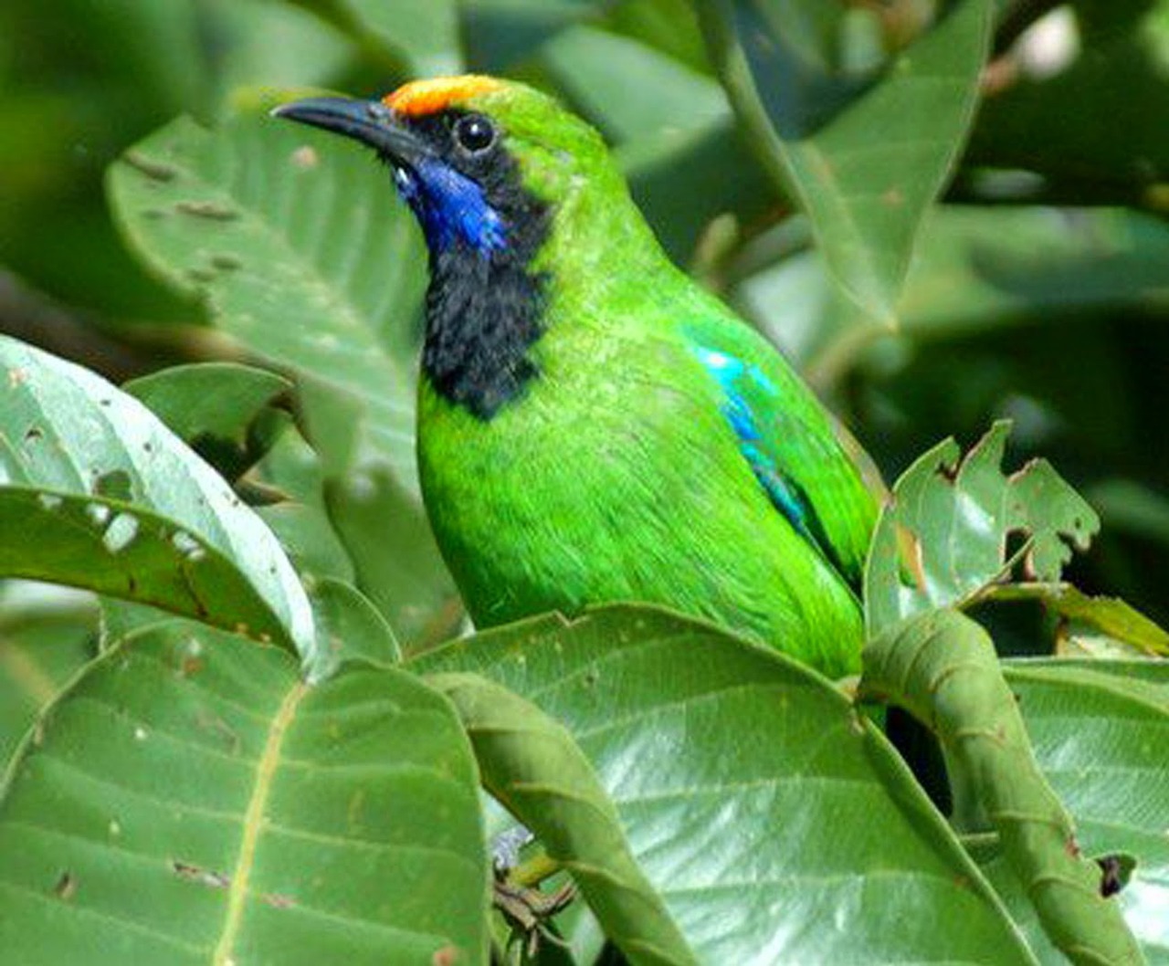
[[[788,79],[829,105],[939,14],[931,0],[738,6],[815,55]],[[0,331],[117,381],[240,357],[198,297],[127,251],[108,166],[178,114],[214,124],[241,86],[374,95],[506,74],[601,128],[671,255],[798,363],[886,479],[947,435],[1012,418],[1014,456],[1049,457],[1102,515],[1072,579],[1165,621],[1169,0],[996,13],[973,134],[880,314],[835,284],[685,0],[6,0]],[[817,89],[825,76],[835,88]],[[386,335],[399,343],[417,334],[416,307],[401,315]],[[343,537],[365,526],[351,510],[334,505]]]

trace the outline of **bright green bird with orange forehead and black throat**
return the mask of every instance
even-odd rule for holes
[[[373,147],[426,236],[419,467],[476,625],[642,600],[858,670],[877,500],[593,127],[485,76],[276,113]]]

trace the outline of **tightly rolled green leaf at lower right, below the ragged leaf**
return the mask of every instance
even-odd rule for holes
[[[890,627],[865,645],[858,694],[908,709],[938,735],[955,792],[964,786],[977,799],[1044,931],[1068,959],[1082,966],[1144,961],[1118,904],[1102,894],[1099,866],[1081,855],[1071,816],[1039,772],[982,627],[945,609]],[[956,801],[955,812],[963,809]]]

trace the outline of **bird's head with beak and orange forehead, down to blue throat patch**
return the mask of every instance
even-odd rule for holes
[[[275,113],[376,151],[433,253],[514,246],[531,258],[553,213],[616,176],[589,125],[553,98],[496,77],[414,81],[381,100],[319,97]]]

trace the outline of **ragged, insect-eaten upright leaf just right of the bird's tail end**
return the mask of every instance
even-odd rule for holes
[[[1046,460],[1003,474],[1009,432],[1010,423],[995,423],[964,457],[947,439],[897,481],[865,568],[870,634],[933,607],[969,604],[1018,561],[1032,579],[1053,583],[1070,544],[1087,549],[1099,517]],[[1008,557],[1011,534],[1025,534],[1026,543]],[[905,540],[914,585],[902,579]]]

